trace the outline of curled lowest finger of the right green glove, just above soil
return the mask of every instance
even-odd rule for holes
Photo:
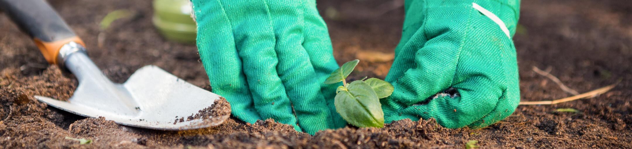
[[[458,96],[439,93],[428,104],[412,105],[402,110],[402,114],[424,119],[434,117],[441,126],[461,128],[490,114],[505,91],[486,76],[470,77],[453,87]]]

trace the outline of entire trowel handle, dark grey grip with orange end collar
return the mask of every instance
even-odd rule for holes
[[[75,42],[85,47],[83,41],[44,0],[0,0],[0,9],[33,38],[46,61],[51,64],[62,63],[58,54],[63,45]]]

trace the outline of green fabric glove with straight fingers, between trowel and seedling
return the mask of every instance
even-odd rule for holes
[[[315,1],[193,0],[197,47],[212,92],[245,122],[275,119],[313,134],[341,128],[338,68]]]

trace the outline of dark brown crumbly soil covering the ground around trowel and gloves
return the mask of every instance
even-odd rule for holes
[[[49,1],[82,37],[90,57],[112,80],[157,65],[198,86],[208,85],[195,45],[167,42],[151,23],[151,1]],[[392,54],[403,21],[402,1],[319,1],[339,63],[367,51]],[[99,21],[116,9],[131,18],[105,31]],[[33,95],[68,98],[76,80],[49,66],[27,35],[0,15],[0,148],[632,148],[632,3],[627,0],[529,0],[514,37],[521,100],[568,97],[531,69],[550,68],[570,88],[588,92],[616,83],[599,97],[557,105],[520,105],[483,129],[444,129],[432,120],[403,120],[385,128],[344,128],[310,136],[272,121],[228,119],[216,128],[154,131],[84,118],[37,102]],[[99,47],[97,35],[106,39]],[[384,78],[392,61],[360,59],[353,77]],[[573,108],[579,113],[554,112]],[[87,138],[79,145],[64,137]]]

